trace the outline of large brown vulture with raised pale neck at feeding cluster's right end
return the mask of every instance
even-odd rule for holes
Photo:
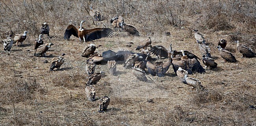
[[[183,56],[181,58],[178,58],[178,60],[175,60],[172,57],[173,70],[175,73],[179,67],[181,67],[182,69],[185,69],[189,74],[192,74],[192,71],[197,71],[199,73],[205,72],[205,69],[201,66],[197,58],[191,59],[187,57],[187,55],[185,55],[183,50],[181,50],[181,52]]]

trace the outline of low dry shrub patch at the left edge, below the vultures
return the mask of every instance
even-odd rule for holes
[[[45,93],[45,89],[41,87],[35,79],[6,79],[0,82],[0,102],[2,104],[13,104],[26,102],[34,99],[34,94],[39,92]]]

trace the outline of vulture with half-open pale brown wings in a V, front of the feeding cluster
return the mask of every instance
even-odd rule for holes
[[[169,58],[166,62],[155,62],[155,64],[152,64],[151,62],[146,63],[146,67],[148,69],[148,73],[150,73],[152,76],[158,76],[158,77],[164,77],[165,73],[169,69],[170,65],[172,64],[172,59]]]

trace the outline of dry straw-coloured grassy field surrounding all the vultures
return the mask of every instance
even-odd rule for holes
[[[89,17],[91,3],[106,18],[97,26]],[[10,29],[13,33],[30,33],[25,47],[13,46],[10,55],[3,51],[0,54],[0,126],[255,126],[256,110],[249,106],[256,104],[256,58],[241,58],[234,43],[240,40],[255,47],[254,8],[252,0],[93,0],[83,4],[79,0],[1,0],[0,38],[5,38]],[[104,95],[111,99],[108,111],[98,113],[98,101],[89,102],[84,91],[88,76],[86,58],[80,55],[89,42],[80,43],[75,37],[63,40],[63,32],[69,20],[76,26],[80,20],[87,20],[88,28],[110,27],[109,19],[115,15],[122,15],[125,22],[137,27],[141,37],[116,33],[112,38],[96,40],[94,44],[102,45],[96,49],[99,53],[108,49],[135,51],[139,41],[154,32],[152,45],[169,47],[172,43],[173,49],[189,50],[200,57],[189,28],[206,34],[218,68],[190,77],[201,80],[207,90],[195,91],[180,83],[172,68],[166,77],[148,75],[150,82],[139,82],[122,64],[117,65],[117,76],[112,76],[106,65],[98,65],[96,71],[105,71],[106,75],[95,86],[96,100]],[[53,36],[50,40],[44,38],[45,42],[56,45],[46,55],[66,53],[58,71],[49,71],[50,63],[44,63],[51,57],[33,57],[33,42],[43,22],[48,22]],[[170,37],[162,36],[166,31],[171,32]],[[215,49],[221,38],[227,40],[227,49],[239,62],[222,62]],[[127,42],[134,44],[126,47]],[[149,99],[154,102],[147,102]]]

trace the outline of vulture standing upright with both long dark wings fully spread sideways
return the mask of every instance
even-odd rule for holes
[[[78,27],[79,29],[70,24],[65,30],[64,39],[69,40],[71,35],[74,35],[75,37],[78,37],[80,41],[83,40],[84,42],[86,42],[113,36],[113,30],[110,28],[83,29],[83,22],[85,22],[85,20],[80,23],[80,26]]]

